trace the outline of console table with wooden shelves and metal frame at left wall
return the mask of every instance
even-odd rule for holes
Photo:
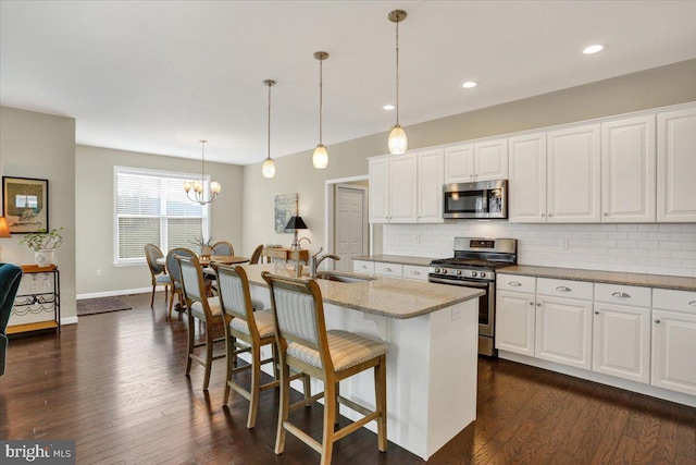
[[[22,265],[22,282],[8,323],[8,335],[61,330],[60,271],[55,265]]]

